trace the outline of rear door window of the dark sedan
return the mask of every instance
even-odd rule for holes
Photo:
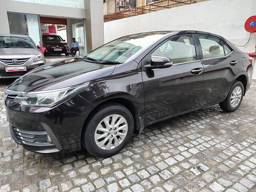
[[[198,38],[202,47],[203,59],[225,56],[221,40],[208,36],[198,36]]]

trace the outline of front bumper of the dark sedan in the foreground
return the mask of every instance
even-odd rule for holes
[[[67,153],[81,149],[82,128],[93,109],[82,93],[54,108],[21,106],[8,99],[5,104],[10,134],[26,150]]]

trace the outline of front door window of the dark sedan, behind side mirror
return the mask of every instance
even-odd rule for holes
[[[196,50],[192,36],[180,36],[168,40],[157,48],[151,56],[170,58],[173,64],[196,60]]]

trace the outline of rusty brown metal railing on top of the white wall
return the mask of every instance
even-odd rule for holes
[[[104,22],[156,12],[164,9],[205,2],[208,0],[158,0],[145,6],[104,15]]]

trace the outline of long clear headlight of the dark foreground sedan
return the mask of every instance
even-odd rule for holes
[[[90,82],[79,84],[76,86],[37,92],[16,92],[6,90],[6,94],[13,101],[19,102],[23,106],[53,106],[60,102],[68,100],[72,96],[78,94],[88,87]]]

